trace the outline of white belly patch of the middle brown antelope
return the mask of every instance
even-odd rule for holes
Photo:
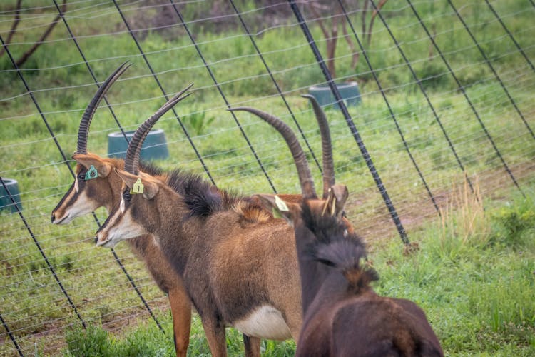
[[[282,313],[272,306],[261,306],[249,316],[235,321],[234,327],[247,336],[267,338],[268,340],[286,340],[292,338]]]

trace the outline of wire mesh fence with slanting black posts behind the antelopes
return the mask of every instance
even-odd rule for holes
[[[133,66],[98,109],[88,151],[110,154],[109,134],[126,139],[193,81],[193,98],[157,124],[170,153],[157,164],[243,194],[298,193],[282,138],[226,109],[279,116],[320,180],[320,132],[300,95],[323,86],[347,216],[371,246],[408,243],[454,183],[496,196],[534,178],[534,12],[520,0],[5,1],[0,353],[58,353],[66,328],[158,323],[167,309],[126,244],[94,246],[103,208],[50,223],[73,182],[81,113],[121,62]],[[343,98],[347,83],[357,91]]]

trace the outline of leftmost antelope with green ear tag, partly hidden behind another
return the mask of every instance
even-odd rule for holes
[[[51,221],[54,224],[69,223],[74,218],[96,211],[100,207],[104,207],[106,211],[110,212],[113,207],[119,205],[122,181],[113,173],[113,169],[123,169],[124,161],[123,159],[102,158],[96,154],[88,153],[87,139],[91,119],[98,104],[113,82],[128,69],[128,66],[130,65],[123,63],[113,74],[108,76],[83,113],[78,129],[76,154],[73,155],[73,159],[76,160],[76,178],[71,188],[52,211]],[[180,91],[154,115],[162,116],[174,104],[188,96],[189,94],[182,96],[185,90]],[[162,174],[162,171],[155,166],[146,164],[140,164],[140,166],[142,171],[152,175]],[[171,315],[173,316],[176,355],[186,356],[190,337],[191,302],[183,288],[182,279],[173,271],[151,236],[134,238],[128,243],[136,256],[143,260],[158,287],[168,294]]]

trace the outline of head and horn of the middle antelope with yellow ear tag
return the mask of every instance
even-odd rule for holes
[[[158,176],[144,174],[138,169],[141,146],[148,132],[156,121],[179,101],[190,96],[183,95],[190,84],[165,103],[153,116],[139,126],[128,143],[124,170],[115,169],[116,176],[122,181],[121,202],[114,206],[106,222],[96,232],[96,245],[113,248],[119,241],[136,238],[153,232],[160,226],[157,195],[163,195],[161,186],[165,186]]]

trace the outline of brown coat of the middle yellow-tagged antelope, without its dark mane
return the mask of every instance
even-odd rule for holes
[[[129,187],[138,178],[118,173]],[[97,232],[99,244],[121,240],[132,229],[155,236],[183,277],[213,356],[226,356],[225,326],[243,321],[261,306],[280,311],[297,340],[302,322],[299,274],[293,231],[285,221],[270,218],[259,208],[245,210],[250,204],[246,199],[233,202],[234,209],[190,216],[183,196],[158,178],[140,176],[146,191],[125,201],[123,213],[111,213]],[[126,186],[123,189],[128,190]]]

